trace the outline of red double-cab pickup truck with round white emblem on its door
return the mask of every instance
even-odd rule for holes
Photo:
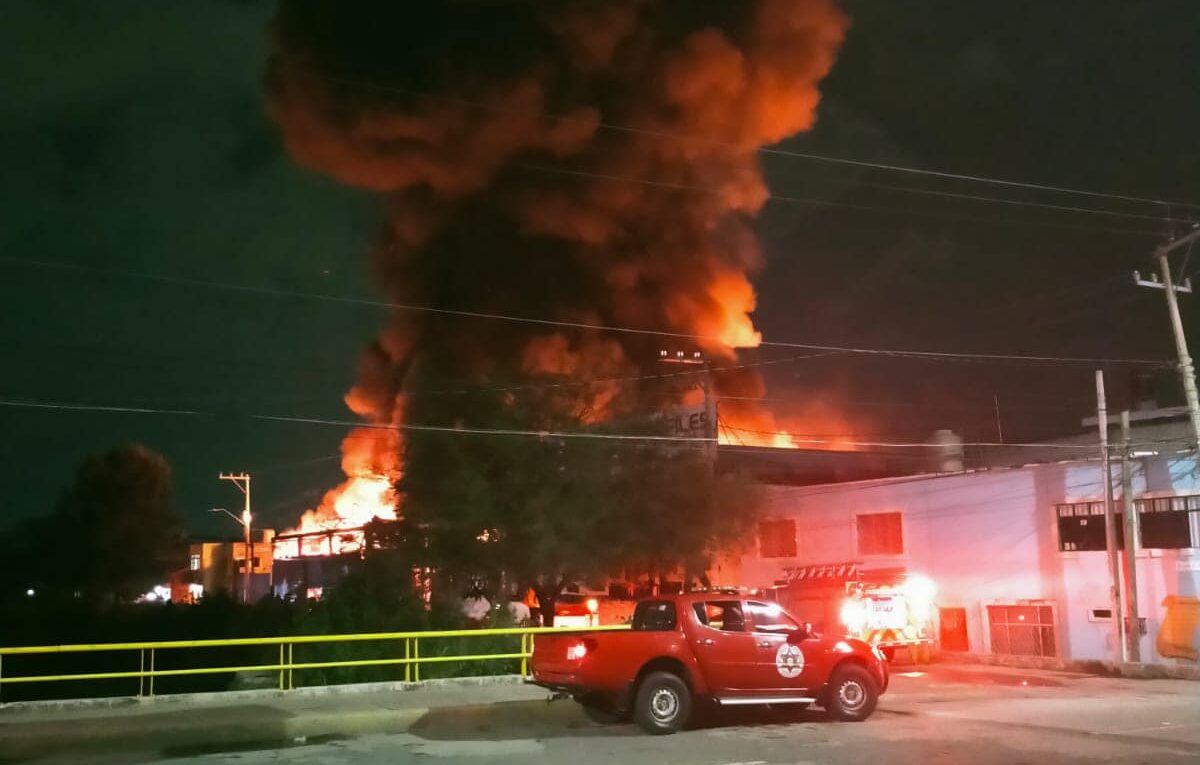
[[[642,601],[625,632],[539,634],[533,682],[594,718],[629,717],[674,733],[697,700],[720,706],[820,704],[866,719],[888,687],[883,655],[817,636],[779,604],[724,591]]]

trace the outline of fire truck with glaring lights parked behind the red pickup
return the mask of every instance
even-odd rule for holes
[[[888,661],[907,651],[928,662],[937,637],[931,579],[900,568],[860,570],[858,564],[788,568],[769,589],[784,608],[816,632],[839,632],[877,646]]]

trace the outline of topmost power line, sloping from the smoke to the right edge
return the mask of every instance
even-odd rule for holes
[[[1009,188],[1025,188],[1025,189],[1030,189],[1030,191],[1051,192],[1051,193],[1057,193],[1057,194],[1078,194],[1078,195],[1081,195],[1081,197],[1091,197],[1091,198],[1096,198],[1096,199],[1112,199],[1112,200],[1116,200],[1116,201],[1133,201],[1133,203],[1139,203],[1139,204],[1160,205],[1160,206],[1166,206],[1166,207],[1188,207],[1188,209],[1193,209],[1193,210],[1200,210],[1200,204],[1195,204],[1195,203],[1171,201],[1171,200],[1166,200],[1166,199],[1154,199],[1154,198],[1148,198],[1148,197],[1135,197],[1135,195],[1132,195],[1132,194],[1116,194],[1116,193],[1108,193],[1108,192],[1096,192],[1096,191],[1090,191],[1090,189],[1084,189],[1084,188],[1072,188],[1072,187],[1067,187],[1067,186],[1055,186],[1055,185],[1049,185],[1049,183],[1032,183],[1032,182],[1027,182],[1027,181],[1013,181],[1013,180],[1008,180],[1008,179],[990,177],[990,176],[985,176],[985,175],[970,175],[970,174],[965,174],[965,173],[949,173],[949,171],[944,171],[944,170],[928,170],[928,169],[923,169],[923,168],[913,168],[913,167],[906,167],[906,165],[900,165],[900,164],[888,164],[888,163],[883,163],[883,162],[871,162],[871,161],[868,161],[868,159],[851,159],[851,158],[847,158],[847,157],[833,157],[833,156],[828,156],[828,155],[818,155],[818,153],[802,152],[802,151],[792,151],[792,150],[788,150],[788,149],[779,149],[779,147],[772,147],[772,146],[743,145],[743,144],[736,144],[736,143],[730,143],[730,141],[722,141],[722,140],[718,140],[718,139],[713,139],[713,138],[704,138],[704,137],[700,137],[700,135],[688,135],[688,134],[682,134],[682,133],[672,133],[672,132],[668,132],[668,131],[661,131],[661,129],[654,129],[654,128],[644,128],[644,127],[636,127],[636,126],[629,126],[629,125],[618,125],[618,124],[614,124],[614,122],[604,122],[604,121],[595,122],[595,121],[592,121],[592,120],[583,120],[583,119],[580,119],[580,118],[572,118],[572,116],[562,115],[562,114],[551,114],[551,113],[547,113],[547,112],[534,112],[534,110],[528,110],[528,109],[526,109],[526,110],[511,109],[511,108],[506,108],[506,107],[498,107],[496,104],[482,103],[482,102],[479,102],[479,101],[472,101],[472,100],[468,100],[468,98],[460,98],[460,97],[455,97],[455,96],[444,96],[444,95],[431,94],[431,92],[414,90],[414,89],[400,88],[400,86],[395,86],[395,85],[385,85],[385,84],[382,84],[382,83],[372,83],[372,82],[368,82],[368,80],[359,80],[359,79],[350,79],[350,78],[340,78],[340,77],[331,77],[331,76],[318,76],[318,77],[322,77],[323,79],[325,79],[328,82],[340,83],[340,84],[343,84],[343,85],[355,85],[355,86],[359,86],[359,88],[370,89],[370,90],[378,90],[378,91],[383,91],[383,92],[396,92],[396,94],[414,96],[414,97],[418,97],[418,98],[427,98],[427,100],[431,100],[431,101],[443,101],[443,102],[446,102],[446,103],[456,103],[456,104],[460,104],[460,106],[467,106],[467,107],[472,107],[472,108],[476,108],[476,109],[482,109],[482,110],[487,110],[487,112],[499,112],[499,113],[508,113],[508,114],[538,114],[539,116],[544,116],[546,119],[554,120],[554,121],[558,121],[558,122],[574,122],[574,124],[589,125],[589,126],[594,125],[596,128],[600,128],[600,129],[606,129],[606,131],[612,131],[612,132],[619,132],[619,133],[638,134],[638,135],[649,135],[649,137],[653,137],[653,138],[664,138],[664,139],[670,139],[670,140],[680,141],[680,143],[701,143],[701,144],[708,144],[710,146],[719,146],[719,147],[722,147],[722,149],[733,149],[733,150],[737,150],[737,151],[754,150],[757,153],[768,155],[768,156],[790,157],[790,158],[794,158],[794,159],[809,159],[809,161],[814,161],[814,162],[824,162],[824,163],[829,163],[829,164],[839,164],[839,165],[858,167],[858,168],[870,168],[870,169],[876,169],[876,170],[886,170],[886,171],[890,171],[890,173],[904,173],[904,174],[910,174],[910,175],[923,175],[923,176],[937,177],[937,179],[942,179],[942,180],[968,181],[968,182],[974,182],[974,183],[991,183],[994,186],[1004,186],[1004,187],[1009,187]]]

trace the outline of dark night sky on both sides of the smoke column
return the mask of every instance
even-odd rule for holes
[[[1194,2],[844,7],[853,26],[817,127],[781,149],[1200,201]],[[0,12],[0,397],[222,412],[0,408],[0,524],[47,512],[85,456],[126,441],[170,460],[200,534],[233,531],[205,512],[240,500],[218,471],[251,471],[259,513],[280,524],[337,481],[344,430],[244,415],[348,418],[341,397],[380,311],[89,270],[377,296],[366,273],[377,200],[293,164],[264,113],[272,13],[272,2],[115,0],[10,0]],[[756,321],[768,339],[1172,354],[1162,294],[1128,275],[1200,209],[763,162],[772,192],[791,199],[768,203],[758,225],[768,266]],[[1198,269],[1200,253],[1186,266]],[[785,399],[774,408],[828,400],[864,436],[952,427],[994,440],[997,396],[1006,439],[1044,438],[1078,429],[1094,406],[1086,366],[828,356],[768,369],[770,396]],[[1110,368],[1117,405],[1128,382]],[[1171,403],[1177,381],[1160,387]]]

